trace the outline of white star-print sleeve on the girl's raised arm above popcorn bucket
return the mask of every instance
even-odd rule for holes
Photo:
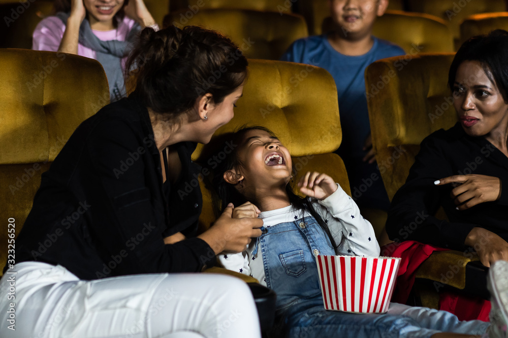
[[[379,256],[379,244],[372,225],[362,217],[355,201],[339,184],[332,195],[317,202],[330,214],[328,227],[336,244],[340,243],[336,254]]]

